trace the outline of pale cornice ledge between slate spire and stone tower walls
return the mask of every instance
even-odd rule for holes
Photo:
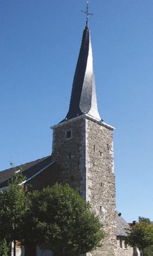
[[[94,121],[95,123],[98,123],[99,125],[107,127],[111,131],[115,130],[115,127],[113,127],[113,126],[111,126],[107,123],[104,123],[104,121],[99,121],[98,119],[93,118],[92,116],[90,116],[90,114],[82,114],[81,116],[78,116],[78,117],[75,117],[75,118],[72,118],[72,119],[69,119],[69,120],[65,120],[62,123],[50,126],[50,129],[54,130],[57,127],[60,127],[60,126],[66,125],[66,124],[70,124],[73,121],[76,121],[76,120],[79,120],[79,119],[89,119],[89,120]]]

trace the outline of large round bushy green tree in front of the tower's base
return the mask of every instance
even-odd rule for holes
[[[98,217],[77,191],[69,185],[55,184],[30,194],[26,243],[50,244],[55,255],[90,252],[104,237]],[[34,254],[33,254],[34,255]]]

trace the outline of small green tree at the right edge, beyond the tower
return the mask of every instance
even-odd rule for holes
[[[139,217],[138,222],[134,227],[127,231],[127,242],[131,247],[138,247],[143,251],[143,255],[147,255],[149,247],[152,244],[153,230],[149,219]]]

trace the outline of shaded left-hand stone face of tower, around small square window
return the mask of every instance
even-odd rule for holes
[[[71,138],[66,139],[66,131]],[[77,188],[85,199],[85,120],[65,123],[54,129],[52,157],[56,159],[60,182]],[[59,180],[57,180],[59,182]]]

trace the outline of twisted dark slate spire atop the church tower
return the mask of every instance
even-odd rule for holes
[[[89,114],[89,116],[101,120],[97,109],[95,75],[88,23],[83,31],[66,119],[69,120],[82,114]]]

